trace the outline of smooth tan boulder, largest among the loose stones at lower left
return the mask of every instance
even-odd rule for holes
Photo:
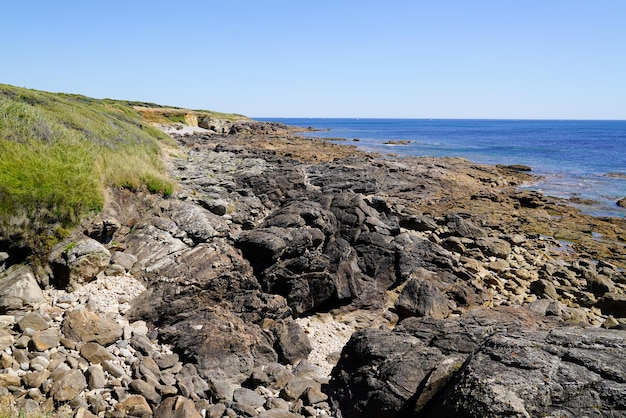
[[[104,346],[113,344],[124,333],[115,321],[78,309],[65,314],[62,331],[66,338],[76,342],[97,342]]]

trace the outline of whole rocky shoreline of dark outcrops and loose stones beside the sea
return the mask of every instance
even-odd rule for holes
[[[0,405],[155,417],[626,415],[626,221],[515,167],[213,121],[174,196],[0,257]]]

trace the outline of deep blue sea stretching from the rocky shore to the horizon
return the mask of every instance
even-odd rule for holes
[[[528,188],[549,196],[599,202],[596,216],[626,217],[626,121],[257,118],[312,127],[322,138],[399,156],[454,156],[477,163],[524,164],[542,176]],[[386,145],[407,140],[408,145]]]

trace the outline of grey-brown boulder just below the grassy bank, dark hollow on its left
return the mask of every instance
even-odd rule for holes
[[[85,238],[69,245],[59,244],[50,258],[55,284],[72,290],[103,271],[111,261],[111,253],[98,241]]]

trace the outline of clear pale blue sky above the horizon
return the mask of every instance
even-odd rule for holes
[[[0,0],[0,83],[252,117],[626,119],[626,1]]]

